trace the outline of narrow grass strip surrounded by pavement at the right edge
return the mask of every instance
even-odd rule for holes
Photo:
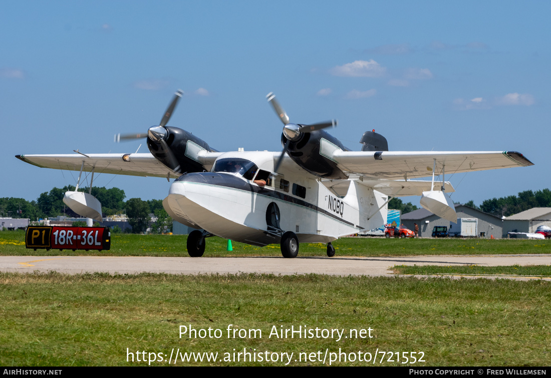
[[[511,266],[438,266],[438,265],[395,265],[391,269],[399,275],[514,275],[551,277],[549,265]]]

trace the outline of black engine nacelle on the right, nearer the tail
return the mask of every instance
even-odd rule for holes
[[[330,179],[346,179],[347,176],[337,167],[337,163],[321,154],[321,140],[336,145],[339,149],[349,151],[334,136],[323,130],[310,133],[301,133],[296,141],[289,140],[287,153],[300,167],[316,176]],[[281,135],[283,145],[287,142],[285,135]]]

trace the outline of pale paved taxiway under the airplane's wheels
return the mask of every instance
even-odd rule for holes
[[[78,274],[109,273],[172,273],[197,275],[202,273],[272,273],[295,275],[319,273],[326,275],[392,276],[394,265],[551,265],[551,255],[444,255],[394,258],[360,257],[243,257],[243,258],[160,258],[145,256],[0,256],[0,271],[32,273],[34,271]],[[450,276],[460,278],[462,276]],[[464,276],[472,278],[473,276]],[[495,276],[484,276],[495,277]],[[499,276],[505,277],[505,276]],[[507,276],[512,279],[533,279]],[[539,279],[539,278],[537,278]],[[551,280],[550,278],[543,278]]]

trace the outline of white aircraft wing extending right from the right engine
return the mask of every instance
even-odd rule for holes
[[[433,174],[436,160],[436,174],[484,171],[486,169],[526,167],[533,163],[520,152],[515,151],[343,151],[334,149],[326,152],[338,167],[349,176],[358,174],[378,179],[413,179]]]

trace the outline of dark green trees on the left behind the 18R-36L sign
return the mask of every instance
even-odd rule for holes
[[[83,188],[88,193],[89,188]],[[73,185],[63,188],[52,188],[39,195],[33,201],[23,198],[0,198],[0,217],[29,218],[37,221],[44,218],[53,218],[64,215],[69,218],[78,218],[80,215],[69,209],[63,202],[66,191],[74,191]],[[92,187],[91,194],[101,202],[102,216],[126,214],[128,223],[132,226],[132,232],[141,233],[151,227],[155,233],[172,229],[172,218],[166,213],[161,200],[143,201],[139,198],[131,198],[125,201],[125,191],[118,188],[106,189],[105,187]],[[153,213],[157,221],[150,224],[149,214]]]

